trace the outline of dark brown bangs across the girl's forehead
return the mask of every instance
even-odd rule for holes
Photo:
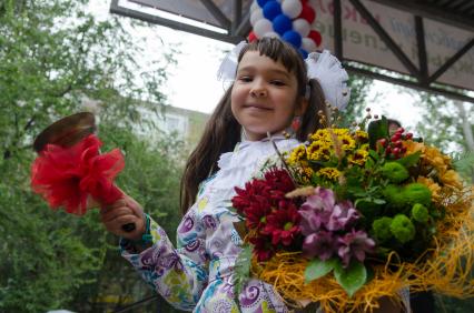
[[[275,62],[280,62],[288,72],[296,75],[298,94],[305,94],[307,82],[306,64],[302,54],[293,46],[277,38],[264,37],[243,48],[238,55],[239,63],[244,54],[248,51],[258,51],[260,55],[266,55]]]

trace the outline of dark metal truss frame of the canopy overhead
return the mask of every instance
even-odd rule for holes
[[[250,12],[244,12],[243,0],[228,0],[233,1],[233,17],[228,19],[226,14],[211,1],[211,0],[196,0],[200,1],[203,6],[219,23],[218,28],[223,32],[213,31],[205,28],[178,22],[170,19],[148,14],[145,12],[131,10],[119,6],[119,0],[112,0],[110,4],[110,12],[120,16],[126,16],[155,24],[169,27],[176,30],[181,30],[198,36],[208,37],[211,39],[238,43],[248,36],[251,30],[249,22]],[[409,75],[397,75],[395,71],[388,70],[395,75],[379,73],[379,71],[367,70],[367,67],[358,67],[361,62],[348,60],[344,58],[344,42],[343,42],[343,26],[342,26],[342,3],[340,0],[334,0],[334,53],[343,61],[345,68],[353,73],[367,75],[377,80],[408,87],[416,90],[427,91],[441,94],[451,99],[466,101],[474,103],[474,97],[471,97],[464,89],[451,87],[448,84],[437,83],[436,80],[445,73],[457,60],[467,53],[474,47],[474,1],[471,0],[371,0],[384,6],[388,6],[398,10],[411,12],[415,19],[416,43],[418,51],[418,64],[414,64],[412,60],[402,51],[392,37],[384,30],[374,16],[365,8],[361,0],[349,0],[359,14],[367,21],[368,26],[375,31],[381,40],[394,53],[394,55],[406,68]],[[425,33],[423,20],[432,19],[445,24],[462,28],[464,30],[472,30],[473,38],[466,42],[454,55],[452,55],[443,65],[440,67],[434,73],[428,74],[427,69],[427,54],[425,46]],[[355,65],[353,65],[355,62]],[[378,67],[371,65],[379,69]]]

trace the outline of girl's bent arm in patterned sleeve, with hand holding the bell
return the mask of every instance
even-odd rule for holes
[[[122,256],[171,305],[191,311],[208,281],[205,234],[192,211],[178,228],[178,249],[175,249],[165,231],[149,218],[147,230],[147,218],[137,202],[128,196],[124,200],[101,212],[106,228],[122,238]],[[124,232],[120,225],[130,222],[137,225],[137,230]],[[142,238],[147,232],[149,235]]]

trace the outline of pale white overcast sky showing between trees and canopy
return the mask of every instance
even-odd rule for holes
[[[91,1],[90,10],[98,18],[107,18],[110,0]],[[129,29],[137,39],[146,39],[144,58],[147,60],[160,58],[160,50],[166,46],[179,44],[177,64],[169,69],[169,79],[162,91],[168,97],[168,104],[211,113],[224,93],[223,82],[217,80],[217,70],[226,55],[225,51],[234,46],[218,40],[177,31],[167,27]],[[385,114],[402,122],[407,129],[414,129],[419,121],[414,107],[415,99],[407,89],[393,84],[374,81],[368,95],[368,103],[374,114]],[[350,103],[350,102],[349,102]]]

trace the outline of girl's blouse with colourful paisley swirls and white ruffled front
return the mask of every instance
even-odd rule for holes
[[[274,138],[279,151],[296,148],[295,139]],[[224,153],[219,171],[201,184],[196,203],[178,226],[177,248],[151,221],[154,244],[139,254],[121,241],[121,254],[171,305],[192,312],[288,312],[273,287],[251,280],[235,301],[234,264],[243,243],[234,228],[239,218],[229,210],[235,186],[243,188],[274,156],[270,141],[244,141]]]

